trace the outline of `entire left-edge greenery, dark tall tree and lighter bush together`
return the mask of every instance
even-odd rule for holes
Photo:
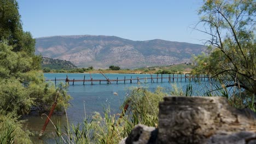
[[[23,115],[32,106],[46,111],[55,99],[54,85],[45,83],[38,71],[42,59],[34,55],[34,46],[32,35],[22,30],[18,3],[0,0],[0,115],[3,111]],[[60,96],[67,104],[69,96]]]

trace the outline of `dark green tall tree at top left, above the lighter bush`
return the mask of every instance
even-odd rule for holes
[[[13,51],[25,51],[32,56],[36,41],[30,32],[23,31],[18,9],[15,0],[0,1],[0,41],[7,40]]]

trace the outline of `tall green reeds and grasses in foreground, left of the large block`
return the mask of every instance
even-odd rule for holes
[[[164,88],[160,87],[155,92],[147,88],[133,88],[123,104],[129,104],[126,112],[124,109],[123,113],[115,115],[109,109],[104,110],[103,115],[95,112],[90,122],[85,118],[82,124],[71,124],[64,131],[57,124],[56,143],[119,143],[138,123],[157,127],[159,101],[166,95]]]

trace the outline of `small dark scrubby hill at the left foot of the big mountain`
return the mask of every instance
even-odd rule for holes
[[[42,58],[42,67],[50,69],[73,69],[77,68],[73,63],[69,61],[63,61],[61,59],[53,59],[48,57]]]

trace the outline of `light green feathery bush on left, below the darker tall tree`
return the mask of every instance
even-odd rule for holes
[[[0,43],[1,109],[21,115],[29,113],[31,107],[49,110],[56,95],[54,85],[44,82],[43,73],[33,67],[32,57],[12,50],[7,43]]]

